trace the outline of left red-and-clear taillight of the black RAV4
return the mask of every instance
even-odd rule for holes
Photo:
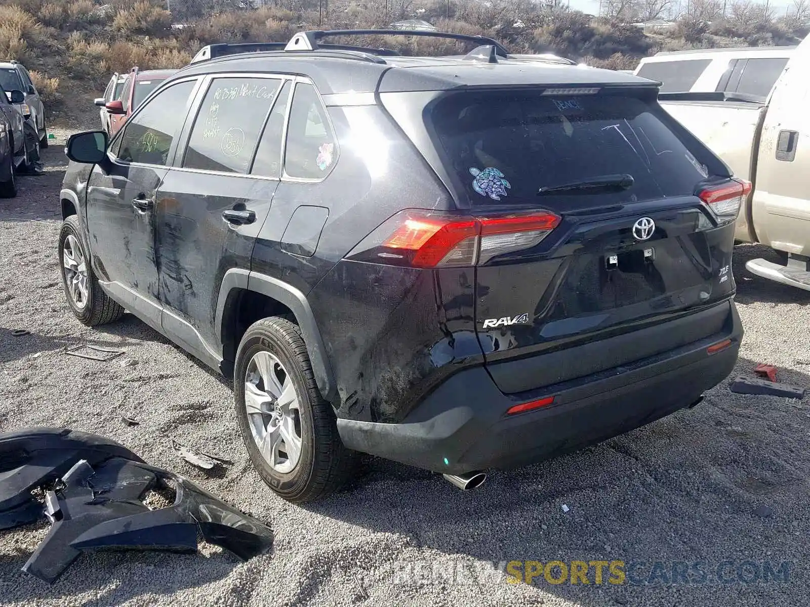
[[[418,268],[480,265],[534,247],[559,223],[548,211],[471,217],[406,210],[377,227],[347,257]]]

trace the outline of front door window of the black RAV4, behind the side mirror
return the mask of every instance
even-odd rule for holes
[[[195,81],[175,84],[160,92],[130,118],[118,144],[119,160],[164,165],[172,142],[185,121],[185,106]]]

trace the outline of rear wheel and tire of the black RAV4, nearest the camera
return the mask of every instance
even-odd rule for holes
[[[355,453],[343,447],[298,325],[279,316],[251,325],[237,350],[233,384],[250,460],[275,493],[305,503],[346,482]]]

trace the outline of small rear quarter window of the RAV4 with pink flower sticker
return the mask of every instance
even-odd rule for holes
[[[315,87],[298,83],[292,96],[284,172],[300,179],[322,179],[337,159],[335,134]]]

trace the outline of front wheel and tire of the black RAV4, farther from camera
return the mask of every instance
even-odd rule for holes
[[[124,308],[101,289],[84,249],[79,219],[70,215],[59,232],[59,266],[62,288],[71,312],[83,325],[96,327],[118,320]]]

